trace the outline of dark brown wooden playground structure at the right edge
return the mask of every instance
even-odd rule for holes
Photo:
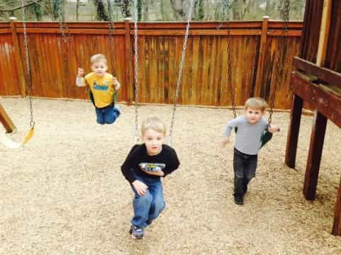
[[[300,57],[293,61],[293,103],[286,164],[295,167],[303,101],[315,110],[303,193],[314,200],[327,120],[341,128],[341,2],[307,1]],[[320,29],[318,29],[320,28]],[[341,235],[341,181],[332,234]]]

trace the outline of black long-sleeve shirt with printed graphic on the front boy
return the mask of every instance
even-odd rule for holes
[[[146,145],[134,145],[121,166],[122,174],[129,183],[133,183],[136,180],[135,175],[160,179],[160,176],[146,174],[142,171],[139,166],[141,163],[165,164],[165,166],[162,166],[163,173],[165,174],[163,177],[171,174],[180,165],[175,150],[168,145],[162,145],[161,152],[153,156],[148,155]]]

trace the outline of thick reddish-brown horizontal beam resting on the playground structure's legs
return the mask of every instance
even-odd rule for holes
[[[299,77],[296,73],[291,75],[291,88],[303,101],[310,103],[313,108],[341,128],[340,96],[323,90],[323,87]]]

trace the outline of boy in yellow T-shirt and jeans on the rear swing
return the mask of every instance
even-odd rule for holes
[[[104,55],[93,55],[90,61],[92,72],[83,77],[84,69],[78,68],[76,85],[89,86],[97,123],[112,124],[121,114],[119,108],[115,106],[115,94],[121,85],[116,77],[107,73],[107,59]]]

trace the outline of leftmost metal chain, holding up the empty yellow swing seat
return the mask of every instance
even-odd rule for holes
[[[33,120],[33,101],[32,101],[32,76],[31,76],[31,68],[30,68],[30,57],[28,54],[28,40],[27,40],[27,30],[26,30],[26,16],[25,16],[25,3],[24,0],[21,0],[21,7],[23,11],[23,41],[25,45],[25,56],[26,56],[26,66],[27,66],[27,74],[28,74],[28,100],[30,102],[30,127],[34,128],[34,120]]]

